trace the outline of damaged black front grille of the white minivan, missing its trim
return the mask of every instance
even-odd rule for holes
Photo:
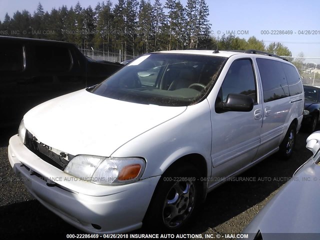
[[[64,170],[69,161],[74,157],[68,153],[54,149],[36,139],[28,130],[25,133],[26,147],[51,165]]]

